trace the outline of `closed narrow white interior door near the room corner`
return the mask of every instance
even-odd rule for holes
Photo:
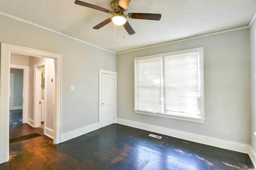
[[[102,73],[102,127],[114,123],[115,75]]]

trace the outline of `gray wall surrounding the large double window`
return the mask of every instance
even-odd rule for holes
[[[134,57],[204,47],[205,123],[134,113]],[[139,123],[250,144],[248,29],[117,55],[117,117]]]

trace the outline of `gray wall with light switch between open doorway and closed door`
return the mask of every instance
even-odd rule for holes
[[[0,42],[62,54],[61,133],[97,123],[98,70],[116,71],[116,54],[22,21],[0,17]],[[70,91],[71,85],[74,91]]]

